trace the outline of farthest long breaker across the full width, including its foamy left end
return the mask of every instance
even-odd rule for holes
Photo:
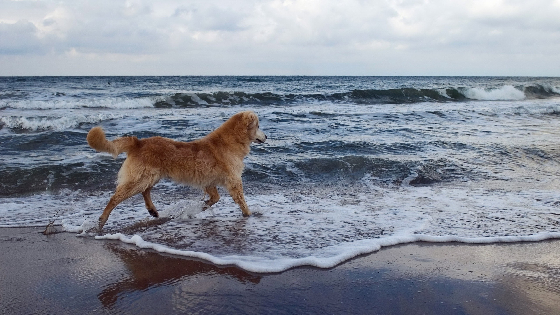
[[[75,108],[169,108],[231,105],[276,105],[301,101],[334,101],[354,104],[401,104],[428,101],[524,100],[560,97],[560,88],[552,85],[500,87],[443,87],[441,89],[356,89],[332,94],[276,94],[243,91],[212,93],[180,92],[169,96],[137,98],[0,100],[0,109],[75,109]]]

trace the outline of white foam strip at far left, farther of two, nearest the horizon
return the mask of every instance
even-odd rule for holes
[[[63,99],[63,100],[0,100],[0,108],[15,109],[57,109],[57,108],[143,108],[153,107],[157,100],[163,99],[160,96],[150,96],[144,98],[98,98],[98,99]]]

